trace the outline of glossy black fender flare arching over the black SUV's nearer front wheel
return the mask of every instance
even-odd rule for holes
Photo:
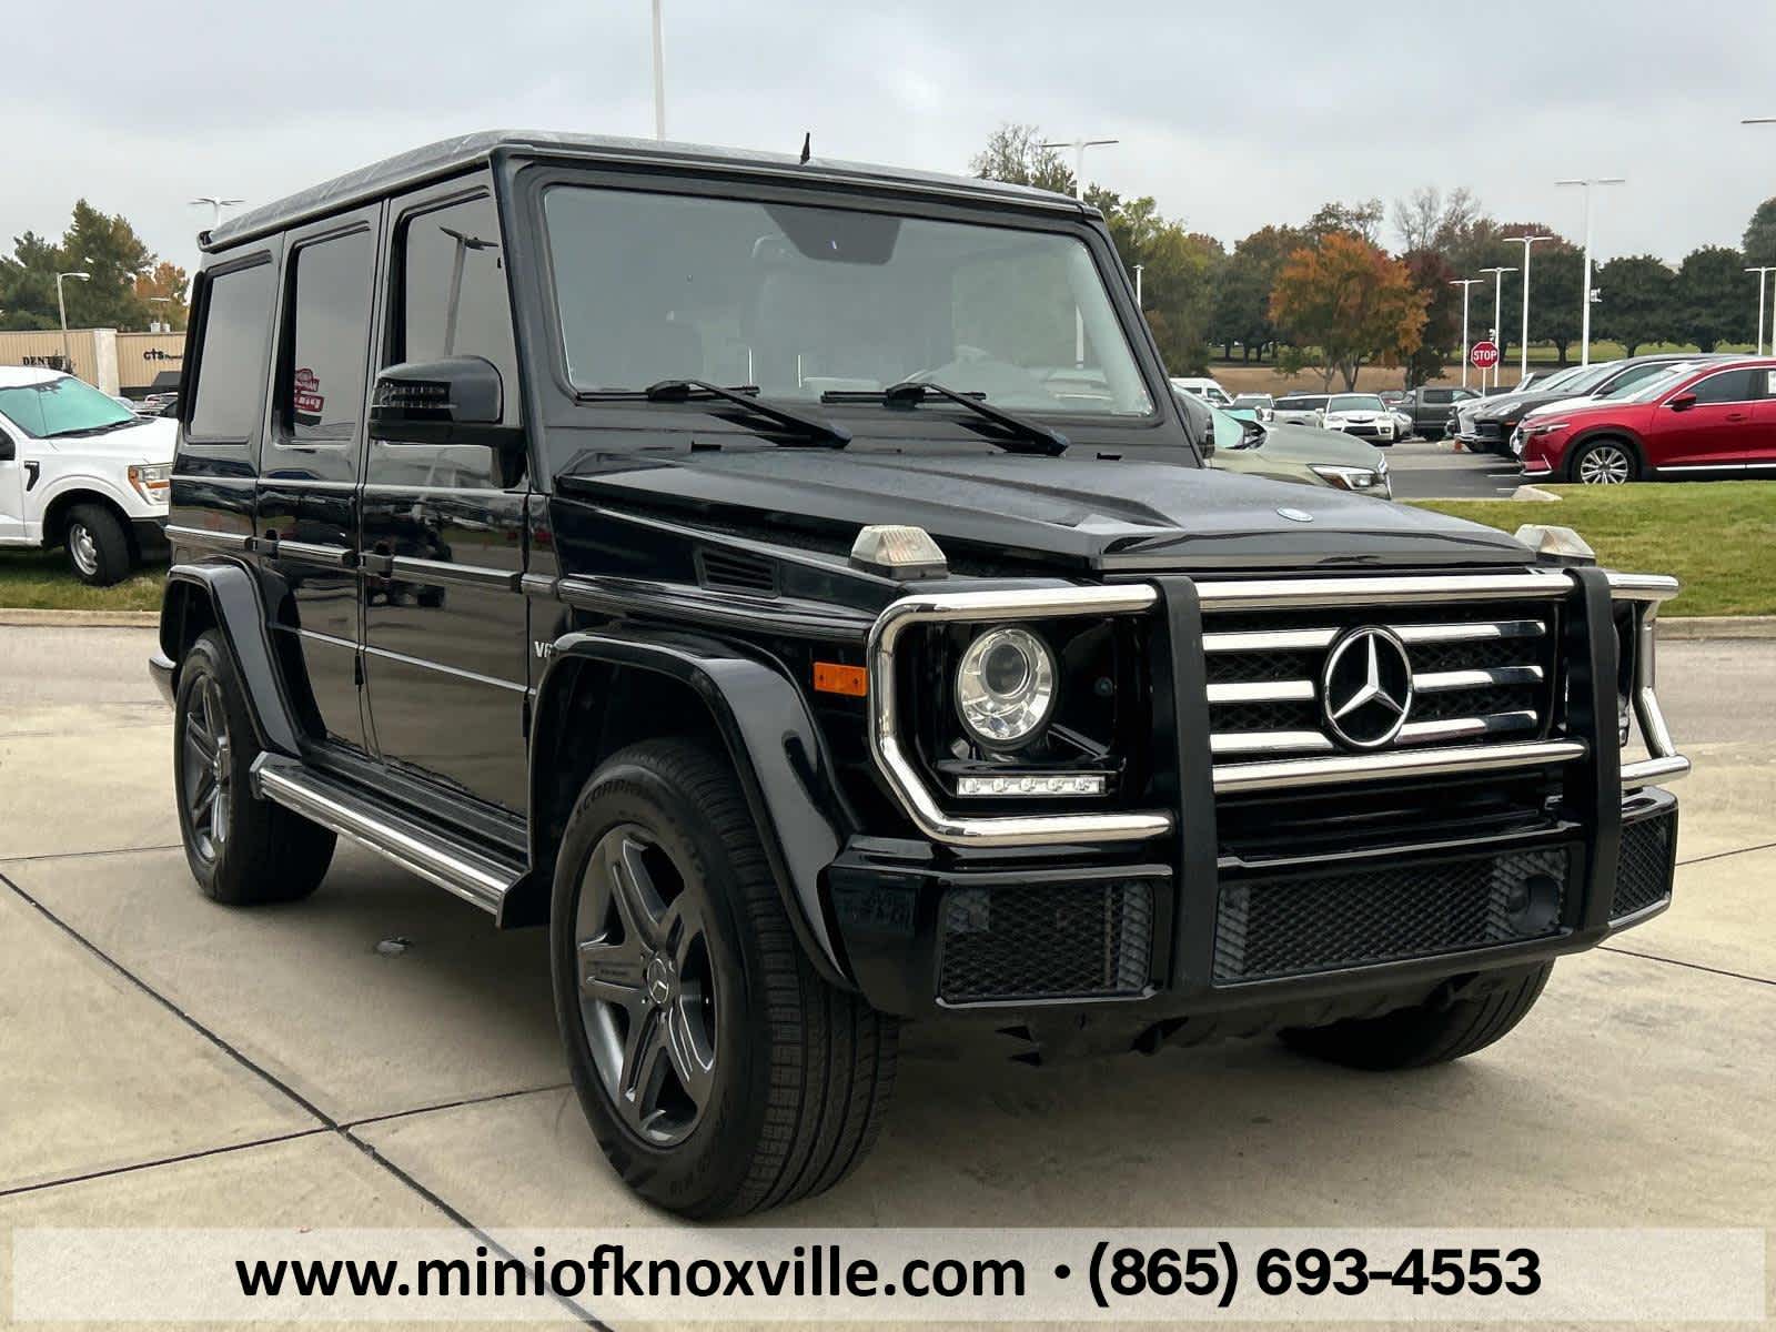
[[[815,968],[833,982],[854,986],[821,899],[821,877],[838,856],[854,822],[833,774],[821,730],[794,680],[769,659],[700,634],[622,629],[577,630],[556,639],[536,687],[531,735],[543,733],[563,707],[568,662],[664,675],[691,689],[709,709],[739,774],[746,805],[764,842],[765,860],[796,938]],[[531,863],[543,863],[535,810],[542,790],[543,746],[531,744]]]

